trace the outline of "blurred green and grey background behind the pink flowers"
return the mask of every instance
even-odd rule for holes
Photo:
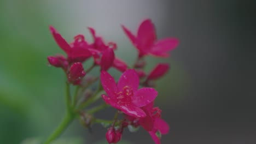
[[[65,113],[64,74],[46,61],[63,53],[49,25],[68,41],[79,33],[90,41],[86,27],[94,27],[106,41],[117,42],[117,56],[132,64],[136,50],[120,25],[135,32],[148,17],[158,38],[181,42],[170,58],[147,59],[147,70],[171,64],[156,87],[156,105],[171,127],[162,143],[256,143],[255,8],[255,1],[229,0],[1,0],[0,143],[36,143]],[[75,121],[59,143],[106,143],[106,129],[92,129]],[[123,143],[153,141],[141,129],[125,131]]]

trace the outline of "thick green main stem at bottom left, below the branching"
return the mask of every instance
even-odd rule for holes
[[[49,144],[51,141],[57,139],[61,135],[61,133],[68,127],[68,125],[73,121],[74,116],[70,113],[67,113],[66,116],[62,119],[59,126],[55,129],[55,131],[48,137],[48,139],[43,144]]]

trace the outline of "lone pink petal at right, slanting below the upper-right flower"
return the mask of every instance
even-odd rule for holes
[[[169,69],[169,64],[160,63],[149,73],[148,80],[158,79],[159,77],[165,75]]]

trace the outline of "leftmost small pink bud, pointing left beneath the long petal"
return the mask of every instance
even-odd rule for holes
[[[55,57],[53,56],[49,56],[47,57],[48,59],[48,62],[53,65],[54,67],[57,67],[57,68],[63,68],[65,71],[67,70],[68,68],[68,61],[67,59],[62,56],[62,55],[57,55]]]

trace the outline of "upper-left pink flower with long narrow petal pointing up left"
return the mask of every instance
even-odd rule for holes
[[[91,52],[89,51],[88,45],[84,41],[84,37],[82,35],[77,35],[77,37],[74,38],[75,41],[69,45],[53,26],[50,26],[50,31],[51,34],[53,34],[56,43],[63,51],[66,52],[69,63],[83,62],[91,57]]]

